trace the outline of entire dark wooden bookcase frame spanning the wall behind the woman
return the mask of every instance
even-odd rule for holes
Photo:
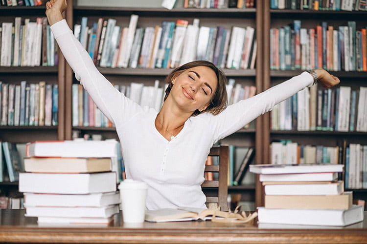
[[[162,20],[175,21],[188,20],[192,23],[194,18],[200,20],[200,25],[217,26],[220,24],[230,26],[252,26],[256,29],[257,57],[255,70],[224,69],[228,78],[233,78],[243,85],[255,85],[256,93],[289,79],[301,73],[302,70],[272,70],[270,63],[270,29],[290,24],[293,20],[301,20],[302,27],[314,28],[321,21],[326,21],[334,27],[346,25],[348,20],[354,20],[357,29],[366,26],[366,12],[364,11],[312,11],[312,10],[278,10],[270,9],[270,1],[257,1],[256,8],[237,9],[195,9],[174,8],[139,8],[139,7],[88,7],[78,6],[77,1],[68,1],[66,19],[71,29],[75,23],[80,24],[82,17],[88,17],[88,23],[96,21],[99,17],[114,18],[117,25],[127,26],[132,14],[139,16],[138,26],[147,27],[161,25]],[[45,15],[45,6],[37,7],[0,7],[0,21],[14,21],[15,16],[36,17]],[[59,55],[58,67],[0,67],[3,82],[19,82],[26,80],[37,82],[40,77],[46,81],[59,84],[59,123],[57,126],[0,126],[0,140],[11,142],[28,142],[33,140],[70,140],[73,133],[78,136],[84,134],[100,134],[103,139],[116,138],[114,128],[72,126],[72,84],[76,83],[72,70]],[[153,85],[155,80],[163,84],[164,77],[171,71],[165,68],[105,68],[98,67],[100,72],[110,81],[119,85],[128,85],[131,82],[142,82]],[[367,72],[357,71],[332,71],[338,76],[343,85],[357,89],[365,86]],[[32,74],[32,77],[30,77]],[[321,143],[324,145],[340,145],[345,139],[347,143],[366,143],[364,132],[330,132],[330,131],[273,131],[271,130],[271,116],[267,113],[252,122],[250,129],[240,130],[222,143],[236,146],[254,146],[256,152],[255,162],[266,163],[270,159],[269,145],[274,140],[292,140],[302,144]],[[24,136],[26,135],[26,136]],[[11,184],[13,185],[13,184]],[[9,187],[1,184],[1,188]],[[367,198],[367,190],[353,189],[356,197]],[[255,201],[257,206],[263,205],[263,192],[261,184],[230,186],[229,193],[244,194],[245,200]]]

